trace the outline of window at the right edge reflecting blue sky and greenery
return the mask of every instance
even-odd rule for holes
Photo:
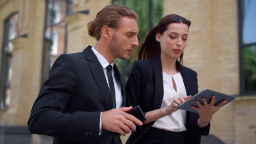
[[[238,2],[241,94],[256,93],[256,1]]]

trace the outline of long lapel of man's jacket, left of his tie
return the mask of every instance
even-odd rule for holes
[[[106,77],[104,75],[102,65],[98,61],[94,52],[91,50],[91,46],[88,46],[84,50],[84,55],[85,55],[85,59],[87,59],[88,61],[91,61],[88,65],[98,87],[100,88],[102,97],[105,101],[106,109],[107,110],[113,109],[112,97],[109,92],[108,83],[106,81]]]

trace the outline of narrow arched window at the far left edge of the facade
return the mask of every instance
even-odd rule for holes
[[[4,21],[0,77],[0,109],[8,109],[10,104],[10,86],[13,73],[13,44],[10,41],[18,35],[18,20],[19,14],[15,13]]]

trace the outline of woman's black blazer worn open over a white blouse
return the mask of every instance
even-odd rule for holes
[[[194,70],[176,62],[177,67],[181,71],[187,95],[195,95],[198,90],[197,74]],[[164,96],[164,86],[162,78],[162,65],[160,56],[147,59],[144,61],[135,61],[132,66],[131,74],[126,85],[126,105],[140,105],[141,109],[146,113],[160,109],[162,98]],[[201,135],[208,135],[210,124],[206,128],[199,128],[197,120],[199,115],[194,112],[187,111],[187,120],[185,131],[185,143],[200,143]],[[148,129],[152,127],[154,122],[138,127],[131,134],[127,143],[139,143],[139,139]]]

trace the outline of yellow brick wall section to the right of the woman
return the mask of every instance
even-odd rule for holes
[[[256,95],[239,95],[237,1],[164,0],[163,6],[164,15],[176,13],[192,22],[184,65],[197,71],[199,91],[236,95],[214,115],[210,134],[230,144],[256,143]]]

